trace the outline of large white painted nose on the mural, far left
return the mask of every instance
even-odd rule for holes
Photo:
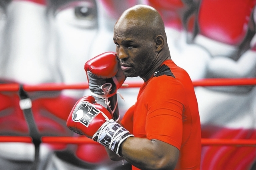
[[[5,21],[4,36],[0,37],[0,78],[26,84],[54,82],[46,7],[12,1]]]

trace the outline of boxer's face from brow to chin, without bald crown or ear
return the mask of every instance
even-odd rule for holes
[[[126,24],[124,24],[126,25]],[[114,43],[122,70],[128,77],[143,77],[156,57],[154,37],[136,27],[115,27]]]

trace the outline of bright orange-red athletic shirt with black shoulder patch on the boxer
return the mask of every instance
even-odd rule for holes
[[[199,170],[201,127],[194,86],[188,73],[166,60],[138,93],[122,125],[135,137],[158,139],[180,150],[175,169]],[[132,170],[138,170],[132,166]]]

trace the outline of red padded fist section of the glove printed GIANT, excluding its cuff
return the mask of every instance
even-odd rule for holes
[[[96,103],[94,97],[84,96],[74,105],[67,119],[67,127],[74,133],[92,136],[107,120],[112,119],[112,112],[103,103]]]

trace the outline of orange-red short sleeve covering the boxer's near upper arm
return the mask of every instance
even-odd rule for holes
[[[182,113],[186,103],[184,87],[175,78],[163,75],[152,79],[145,93],[150,96],[146,104],[147,138],[158,139],[180,149]]]

